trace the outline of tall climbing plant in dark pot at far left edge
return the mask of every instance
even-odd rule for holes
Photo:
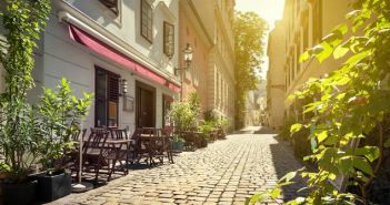
[[[33,86],[31,75],[36,41],[50,14],[50,0],[12,0],[1,3],[0,64],[6,89],[0,95],[0,148],[4,161],[0,172],[6,175],[3,204],[32,204],[37,181],[30,180],[43,136],[42,124],[27,101]],[[33,9],[32,9],[33,8]]]

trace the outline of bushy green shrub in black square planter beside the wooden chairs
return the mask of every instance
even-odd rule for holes
[[[37,107],[44,137],[40,146],[40,162],[46,172],[36,176],[40,201],[49,202],[71,193],[71,176],[66,172],[67,156],[73,150],[70,137],[80,130],[80,122],[88,114],[92,95],[83,99],[72,95],[69,82],[61,80],[57,91],[44,89]]]

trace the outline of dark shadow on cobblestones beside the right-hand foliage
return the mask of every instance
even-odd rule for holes
[[[288,142],[278,140],[277,144],[270,144],[270,150],[278,178],[282,178],[287,173],[297,171],[303,166],[303,164],[296,158],[293,151]],[[292,182],[296,183],[282,187],[284,202],[289,202],[299,196],[307,195],[306,192],[298,192],[306,186],[306,183],[301,177],[297,176],[292,180]]]

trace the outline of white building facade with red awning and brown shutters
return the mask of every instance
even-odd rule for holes
[[[33,76],[40,88],[71,82],[78,96],[94,93],[84,127],[168,124],[178,99],[178,0],[53,1],[36,54]]]

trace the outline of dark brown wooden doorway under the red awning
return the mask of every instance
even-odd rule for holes
[[[137,127],[156,126],[156,89],[136,82],[136,125]]]

